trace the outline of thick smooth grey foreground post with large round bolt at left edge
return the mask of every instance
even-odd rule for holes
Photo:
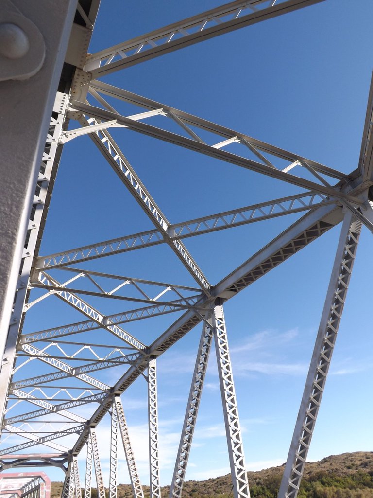
[[[11,18],[16,14],[21,24],[23,19],[25,25],[31,23],[33,38],[28,42],[31,47],[35,43],[43,44],[45,57],[41,58],[39,68],[35,67],[32,74],[25,74],[24,79],[18,80],[10,65],[8,79],[1,81],[0,360],[8,336],[14,294],[19,288],[19,267],[35,185],[77,3],[77,0],[1,2],[1,22],[7,15]],[[26,39],[28,35],[26,33]],[[29,56],[28,53],[25,57]],[[2,57],[1,60],[2,79],[5,80],[9,59]],[[23,137],[22,146],[19,146],[20,137]]]

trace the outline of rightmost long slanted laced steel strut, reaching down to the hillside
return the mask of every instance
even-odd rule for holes
[[[296,498],[324,392],[362,223],[347,212],[343,221],[328,292],[300,403],[279,498]]]

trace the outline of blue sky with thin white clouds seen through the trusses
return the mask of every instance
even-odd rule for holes
[[[92,53],[216,5],[196,0],[102,3]],[[127,68],[104,81],[348,173],[357,167],[360,153],[372,72],[372,14],[370,0],[327,0]],[[300,192],[290,184],[132,131],[114,130],[113,136],[172,223]],[[298,217],[185,243],[214,284]],[[151,228],[91,140],[85,136],[69,142],[40,253]],[[248,470],[286,460],[339,231],[340,227],[332,229],[225,305]],[[372,450],[371,253],[372,234],[363,228],[309,460]],[[85,267],[194,286],[163,246]],[[31,308],[25,332],[84,319],[53,299]],[[120,311],[121,305],[114,301],[104,306],[100,309],[109,313]],[[173,319],[174,315],[152,318],[127,329],[149,344]],[[171,482],[200,330],[199,326],[191,331],[158,361],[162,485]],[[215,364],[211,355],[187,479],[229,472]],[[100,379],[110,383],[113,375],[103,371]],[[123,395],[123,404],[140,477],[147,484],[143,379]],[[108,431],[109,421],[104,419],[98,442],[106,475]],[[49,474],[52,480],[63,480],[60,471]],[[119,482],[129,482],[123,460]]]

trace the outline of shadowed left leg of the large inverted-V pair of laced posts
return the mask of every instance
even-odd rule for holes
[[[190,447],[193,440],[195,423],[197,420],[199,403],[202,395],[204,378],[207,370],[208,358],[212,343],[212,329],[207,324],[203,325],[201,339],[197,351],[194,373],[191,381],[190,392],[187,402],[187,410],[184,418],[182,435],[180,438],[178,456],[172,478],[170,498],[181,498]]]

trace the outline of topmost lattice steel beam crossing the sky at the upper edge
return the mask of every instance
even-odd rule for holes
[[[323,0],[233,1],[88,55],[84,69],[93,78],[98,78],[123,67],[320,1]]]

